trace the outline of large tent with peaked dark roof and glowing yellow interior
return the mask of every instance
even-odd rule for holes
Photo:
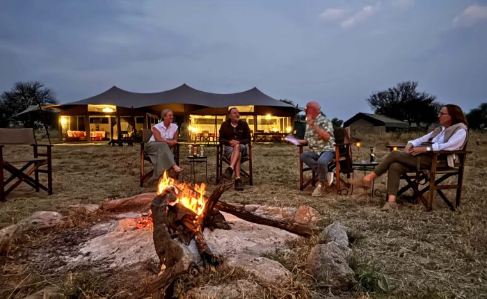
[[[117,132],[120,131],[140,131],[142,128],[149,128],[163,108],[172,109],[178,117],[179,124],[193,124],[193,127],[200,128],[201,131],[215,133],[228,108],[233,106],[239,108],[242,118],[247,120],[250,128],[254,130],[284,131],[285,128],[292,127],[296,114],[295,106],[273,99],[257,88],[218,94],[197,90],[186,84],[172,90],[153,93],[129,92],[113,86],[99,95],[76,102],[50,105],[50,108],[61,111],[60,129],[63,134],[67,131],[63,125],[77,131],[88,131],[86,128],[90,128],[89,131],[101,131],[101,124],[97,127],[93,125],[93,122],[97,121],[104,122],[104,130],[111,131],[112,138],[117,138]],[[286,119],[277,119],[279,117]],[[107,119],[100,120],[101,118]],[[209,127],[209,118],[214,120],[213,129]],[[80,125],[81,122],[83,124]],[[117,127],[113,133],[115,124]],[[124,130],[125,127],[129,129]]]

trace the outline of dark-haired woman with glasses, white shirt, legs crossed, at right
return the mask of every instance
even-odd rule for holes
[[[463,149],[467,143],[467,120],[460,107],[452,104],[443,106],[438,114],[438,120],[441,127],[420,138],[408,141],[402,151],[390,152],[373,172],[363,178],[354,179],[351,184],[368,189],[372,186],[374,179],[388,172],[388,202],[381,211],[397,209],[399,204],[396,202],[396,195],[403,173],[418,168],[429,168],[431,156],[425,155],[427,152]]]

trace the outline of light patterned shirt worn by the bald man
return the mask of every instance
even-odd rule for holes
[[[314,120],[316,124],[321,129],[324,129],[330,134],[330,139],[328,141],[323,140],[314,129],[306,124],[305,140],[308,141],[308,146],[311,151],[315,154],[321,154],[324,151],[335,152],[335,137],[333,136],[333,124],[325,118],[323,115],[318,115]]]

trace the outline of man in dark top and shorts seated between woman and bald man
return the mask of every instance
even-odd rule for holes
[[[240,113],[237,108],[230,108],[228,119],[221,124],[220,142],[225,145],[225,156],[230,160],[230,166],[227,167],[222,176],[225,179],[232,179],[235,173],[235,190],[242,191],[242,180],[240,178],[241,157],[246,156],[246,144],[250,143],[250,128],[247,122],[240,120]]]

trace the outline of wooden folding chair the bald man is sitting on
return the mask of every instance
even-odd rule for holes
[[[341,175],[346,175],[347,180],[350,179],[353,172],[352,167],[352,152],[351,152],[351,137],[350,128],[335,128],[333,131],[335,136],[335,159],[328,163],[328,171],[335,173],[335,184],[337,188],[337,194],[348,193],[348,187],[350,184],[345,181]],[[303,154],[303,148],[307,145],[298,145],[299,154],[299,190],[303,191],[306,187],[315,184],[318,181],[318,174],[306,166],[301,161],[301,154]],[[312,175],[309,179],[304,179],[305,172],[312,171]],[[342,188],[345,186],[346,188]]]

